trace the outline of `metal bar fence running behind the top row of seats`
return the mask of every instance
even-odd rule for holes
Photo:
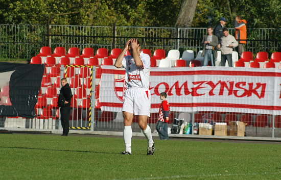
[[[235,29],[229,29],[234,35]],[[206,28],[159,28],[87,25],[0,24],[0,58],[25,58],[36,56],[40,47],[57,46],[123,48],[129,38],[140,40],[142,48],[178,49],[182,53],[202,49],[201,40]],[[280,48],[281,29],[247,29],[246,50],[254,55],[265,51],[271,55]]]

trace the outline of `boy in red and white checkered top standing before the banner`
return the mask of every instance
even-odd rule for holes
[[[169,122],[169,114],[170,114],[170,105],[167,98],[167,93],[160,93],[160,99],[162,101],[161,106],[159,108],[159,116],[158,122],[156,125],[156,130],[161,140],[168,140],[168,122]]]

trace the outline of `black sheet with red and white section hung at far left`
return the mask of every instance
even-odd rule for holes
[[[44,64],[0,62],[0,116],[34,118]]]

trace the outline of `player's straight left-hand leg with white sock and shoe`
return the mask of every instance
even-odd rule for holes
[[[129,112],[123,112],[124,117],[124,131],[123,131],[123,137],[124,142],[126,146],[126,150],[124,152],[121,152],[123,155],[131,155],[131,140],[132,140],[132,122],[134,114]]]

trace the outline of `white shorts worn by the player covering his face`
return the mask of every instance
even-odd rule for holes
[[[143,88],[130,88],[125,91],[122,111],[134,115],[150,116],[150,91]]]

